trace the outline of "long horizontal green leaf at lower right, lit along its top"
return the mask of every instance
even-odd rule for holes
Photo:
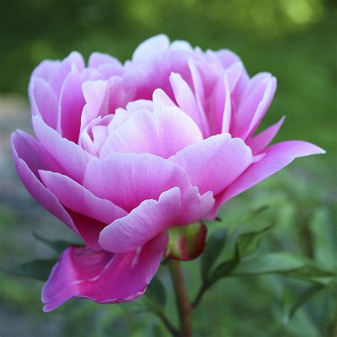
[[[252,257],[241,262],[232,272],[232,276],[256,274],[282,274],[321,284],[326,284],[328,279],[334,276],[333,272],[323,269],[316,262],[287,252],[274,252]]]

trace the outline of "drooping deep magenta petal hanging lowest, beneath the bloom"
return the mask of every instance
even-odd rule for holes
[[[122,255],[69,247],[43,287],[43,311],[52,311],[71,297],[100,304],[137,299],[159,268],[166,243],[167,235],[160,235]]]

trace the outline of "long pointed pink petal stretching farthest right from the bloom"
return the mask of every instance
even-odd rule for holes
[[[252,164],[232,185],[216,198],[215,209],[210,217],[215,217],[220,205],[227,200],[260,183],[265,178],[272,176],[272,174],[290,164],[295,158],[324,153],[323,149],[306,141],[283,141],[269,146],[265,151],[265,156],[260,161]]]

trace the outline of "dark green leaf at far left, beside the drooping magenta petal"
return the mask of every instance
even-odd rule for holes
[[[56,262],[58,262],[57,259],[34,260],[20,264],[13,269],[1,268],[0,271],[19,277],[28,277],[30,279],[46,281],[49,277],[50,270],[53,268]]]

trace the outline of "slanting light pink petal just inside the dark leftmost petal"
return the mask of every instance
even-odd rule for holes
[[[48,127],[38,116],[33,117],[33,128],[41,145],[58,161],[67,176],[82,182],[85,167],[92,156],[73,141],[60,137],[58,132]]]

